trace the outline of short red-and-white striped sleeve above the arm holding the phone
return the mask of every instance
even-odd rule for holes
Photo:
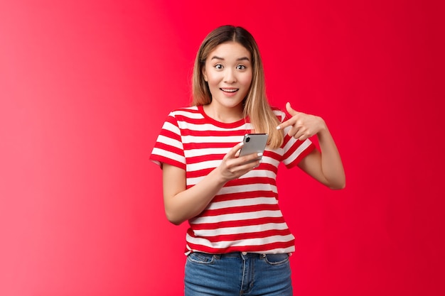
[[[186,169],[183,143],[181,141],[181,129],[173,112],[168,114],[163,123],[154,148],[151,151],[150,160],[162,168],[163,163]]]

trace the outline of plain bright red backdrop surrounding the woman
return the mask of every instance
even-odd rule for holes
[[[445,295],[442,3],[2,1],[0,295],[182,294],[186,224],[148,158],[226,23],[343,157],[339,192],[279,172],[295,295]]]

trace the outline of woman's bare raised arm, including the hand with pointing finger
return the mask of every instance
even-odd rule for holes
[[[325,121],[319,116],[295,111],[289,103],[286,104],[286,110],[292,117],[279,124],[277,128],[291,126],[288,135],[299,141],[305,141],[316,135],[321,150],[321,153],[318,150],[309,153],[300,161],[299,168],[327,187],[343,189],[345,187],[343,163]]]

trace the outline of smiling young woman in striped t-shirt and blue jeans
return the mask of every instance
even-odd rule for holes
[[[345,187],[340,155],[319,116],[267,101],[257,43],[221,26],[200,45],[192,106],[172,111],[151,160],[163,170],[173,224],[188,221],[185,295],[292,295],[294,236],[278,205],[279,163]],[[246,133],[267,133],[264,153],[240,156]],[[309,140],[318,137],[320,150]]]

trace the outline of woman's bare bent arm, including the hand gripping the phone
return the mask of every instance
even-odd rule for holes
[[[179,225],[198,216],[208,206],[215,194],[230,180],[241,177],[259,165],[259,160],[250,162],[258,155],[237,157],[242,143],[227,153],[218,168],[203,180],[186,189],[186,171],[174,165],[163,164],[163,203],[168,221]]]

